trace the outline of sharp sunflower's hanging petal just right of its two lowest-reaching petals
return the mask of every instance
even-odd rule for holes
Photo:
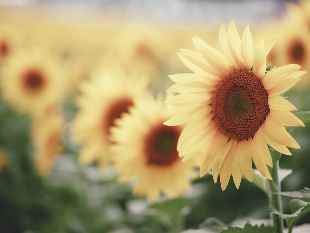
[[[243,140],[239,142],[238,150],[236,153],[240,154],[239,163],[240,168],[246,178],[252,182],[253,181],[253,167],[252,167],[252,154],[251,154],[251,144],[252,138],[247,141]]]

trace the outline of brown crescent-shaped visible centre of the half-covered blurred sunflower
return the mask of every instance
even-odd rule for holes
[[[128,108],[133,105],[132,99],[121,98],[110,105],[105,115],[105,132],[109,133],[109,128],[115,126],[114,120],[121,117],[121,114],[128,112]]]

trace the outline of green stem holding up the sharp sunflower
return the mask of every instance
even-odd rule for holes
[[[269,205],[271,209],[276,209],[280,213],[283,213],[282,210],[282,200],[280,196],[281,187],[280,187],[280,180],[279,180],[279,160],[277,160],[273,164],[273,168],[270,169],[272,180],[268,180],[267,183],[267,190],[268,190],[268,197],[269,197]],[[275,228],[275,233],[282,233],[283,232],[283,220],[282,218],[275,214],[271,213],[271,218],[273,221],[273,226]]]

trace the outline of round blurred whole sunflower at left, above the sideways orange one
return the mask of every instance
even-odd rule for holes
[[[1,75],[3,98],[22,113],[37,114],[64,96],[62,70],[43,50],[15,53],[3,64]]]

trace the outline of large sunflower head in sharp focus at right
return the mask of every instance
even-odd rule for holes
[[[252,159],[258,171],[272,179],[268,145],[291,155],[287,146],[300,148],[284,125],[304,126],[290,111],[296,110],[281,94],[299,81],[305,72],[296,64],[266,72],[266,56],[276,39],[261,40],[255,47],[249,25],[240,39],[234,22],[226,32],[219,30],[224,54],[194,36],[199,52],[181,49],[179,58],[194,73],[175,74],[169,91],[180,93],[168,101],[183,106],[182,111],[165,122],[185,123],[177,150],[183,160],[201,154],[200,175],[212,169],[225,190],[230,176],[237,188],[242,173],[253,180]]]

